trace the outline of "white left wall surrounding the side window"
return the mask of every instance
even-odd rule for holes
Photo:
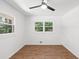
[[[0,0],[0,13],[15,18],[15,32],[0,34],[0,59],[8,59],[24,45],[24,16],[4,0]]]

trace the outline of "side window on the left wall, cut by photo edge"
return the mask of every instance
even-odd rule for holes
[[[0,15],[0,34],[14,32],[13,19]]]

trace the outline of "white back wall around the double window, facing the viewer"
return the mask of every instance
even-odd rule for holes
[[[53,21],[53,32],[36,32],[36,21]],[[61,44],[62,22],[59,16],[32,16],[26,20],[26,44]]]

